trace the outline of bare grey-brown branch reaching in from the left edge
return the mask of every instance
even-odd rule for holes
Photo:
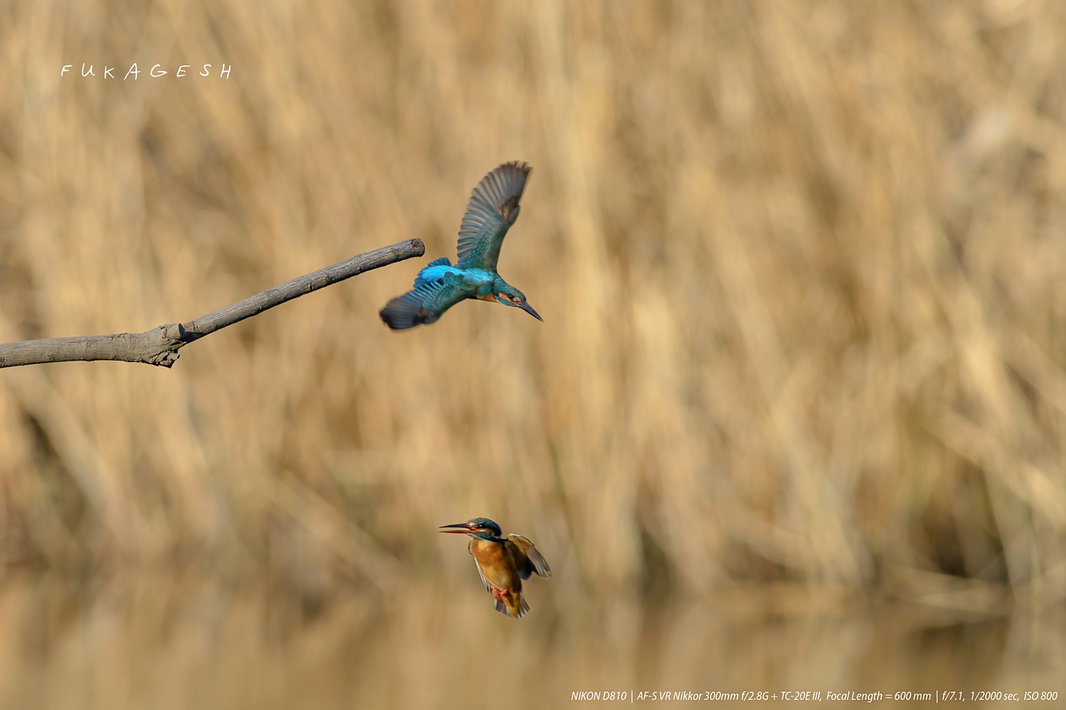
[[[206,313],[189,323],[171,323],[143,333],[79,335],[3,343],[0,344],[0,367],[74,360],[119,360],[169,367],[178,359],[179,348],[216,330],[332,283],[424,253],[425,245],[422,244],[422,240],[400,242],[305,274],[231,306]]]

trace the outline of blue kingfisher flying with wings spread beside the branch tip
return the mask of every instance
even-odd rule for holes
[[[526,302],[526,294],[496,273],[503,237],[518,219],[518,200],[531,169],[526,163],[513,161],[482,178],[470,194],[459,225],[455,265],[442,257],[422,268],[415,277],[415,287],[382,309],[382,320],[389,328],[405,330],[435,323],[465,298],[520,308],[544,323]]]

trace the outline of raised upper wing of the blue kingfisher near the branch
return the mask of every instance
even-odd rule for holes
[[[531,169],[518,161],[504,163],[473,188],[459,226],[456,266],[496,270],[503,237],[518,218],[518,200]]]

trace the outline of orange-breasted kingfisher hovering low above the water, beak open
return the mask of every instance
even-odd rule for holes
[[[441,525],[440,532],[470,535],[469,550],[481,576],[481,583],[496,599],[496,610],[505,616],[521,618],[530,611],[530,606],[522,596],[523,579],[529,579],[534,572],[545,579],[551,579],[548,561],[528,538],[514,532],[504,538],[500,526],[487,517]]]

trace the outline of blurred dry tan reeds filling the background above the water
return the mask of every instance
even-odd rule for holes
[[[192,566],[311,609],[432,582],[443,608],[482,592],[434,529],[488,515],[548,552],[535,611],[736,582],[1063,598],[1056,3],[0,18],[0,339],[145,330],[410,236],[454,255],[514,159],[500,269],[546,320],[466,303],[390,333],[409,262],[173,370],[4,370],[9,568]]]

